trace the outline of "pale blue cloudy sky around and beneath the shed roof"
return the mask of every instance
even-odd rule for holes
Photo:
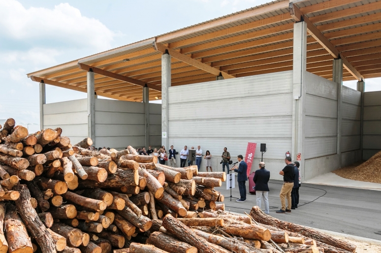
[[[38,83],[26,73],[154,37],[269,0],[0,0],[0,119],[39,129]],[[344,85],[356,88],[356,82]],[[366,90],[381,89],[381,78]],[[47,85],[47,103],[86,94]],[[0,122],[3,124],[3,122]]]

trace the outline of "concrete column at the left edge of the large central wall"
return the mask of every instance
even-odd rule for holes
[[[171,55],[162,55],[162,145],[168,149],[168,88],[171,87]]]

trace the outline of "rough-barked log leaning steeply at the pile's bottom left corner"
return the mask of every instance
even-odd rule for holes
[[[16,200],[16,207],[31,236],[35,238],[43,252],[57,252],[55,244],[44,224],[41,222],[36,210],[30,204],[30,193],[25,184],[14,187],[20,193]]]

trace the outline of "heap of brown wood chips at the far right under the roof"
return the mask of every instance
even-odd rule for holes
[[[381,151],[370,157],[368,161],[337,169],[333,173],[347,179],[381,183]]]

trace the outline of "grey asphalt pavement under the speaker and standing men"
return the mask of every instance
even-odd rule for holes
[[[227,180],[228,178],[229,175]],[[235,185],[232,196],[239,198],[238,183]],[[271,216],[308,227],[381,240],[381,191],[302,183],[299,189],[299,208],[291,213],[280,214],[275,211],[280,209],[281,186],[282,181],[269,182]],[[248,181],[246,189],[246,202],[239,203],[233,198],[230,201],[230,189],[227,190],[226,182],[223,182],[218,191],[225,196],[226,211],[244,214],[257,205],[256,195],[248,192]],[[324,196],[320,197],[322,195]],[[320,198],[315,200],[318,197]],[[310,201],[313,202],[308,203]],[[263,200],[261,207],[264,210]]]

